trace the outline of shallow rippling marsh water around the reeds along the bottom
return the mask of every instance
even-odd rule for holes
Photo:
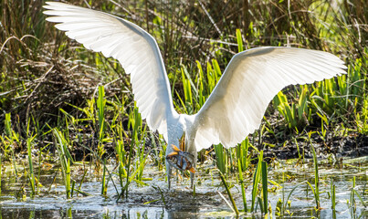
[[[26,162],[3,163],[1,175],[0,216],[1,218],[235,218],[232,206],[213,163],[206,163],[198,169],[195,193],[190,189],[186,176],[176,177],[173,188],[168,191],[164,172],[157,167],[146,166],[143,177],[148,181],[144,186],[131,183],[127,196],[118,197],[120,185],[112,178],[108,183],[107,195],[101,195],[101,173],[93,165],[79,163],[73,166],[72,178],[76,188],[82,175],[86,178],[80,184],[80,191],[66,199],[65,187],[57,164],[35,166],[35,174],[42,183],[39,193],[30,197],[29,182],[24,177]],[[111,172],[114,165],[110,165]],[[38,172],[37,170],[41,170]],[[320,193],[321,210],[315,211],[315,199],[307,183],[314,185],[312,162],[275,162],[268,167],[268,202],[273,218],[278,218],[276,206],[281,201],[286,206],[284,216],[288,218],[332,218],[331,180],[336,188],[336,218],[368,218],[368,209],[360,198],[367,202],[368,158],[345,160],[340,164],[321,163]],[[352,196],[353,176],[355,191]],[[252,177],[246,177],[247,206],[251,202]],[[237,208],[243,210],[242,195],[237,177],[229,178],[231,193]],[[290,192],[292,193],[290,194]],[[290,195],[289,195],[290,194]],[[289,196],[289,203],[287,198]],[[118,200],[119,198],[119,200]],[[227,203],[226,203],[227,202]],[[354,203],[354,204],[352,204]],[[258,205],[256,205],[258,208]],[[256,214],[241,214],[244,218],[263,218],[259,208]]]

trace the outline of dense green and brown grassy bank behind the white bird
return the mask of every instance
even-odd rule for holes
[[[279,147],[308,133],[324,148],[349,142],[359,147],[366,141],[368,10],[363,0],[68,2],[121,16],[152,34],[180,112],[199,110],[230,58],[243,49],[290,46],[331,52],[346,62],[348,76],[284,89],[251,142]],[[129,76],[116,60],[86,50],[46,22],[44,4],[3,0],[0,5],[0,150],[22,150],[35,136],[37,147],[52,149],[53,128],[68,136],[70,147],[96,142],[109,148],[116,144],[118,124],[128,133],[124,138],[132,138]],[[107,101],[103,120],[109,125],[103,129],[96,103],[99,85]]]

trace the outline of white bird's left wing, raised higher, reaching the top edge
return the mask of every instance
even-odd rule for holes
[[[176,114],[170,84],[154,38],[117,16],[75,5],[47,2],[47,21],[66,35],[105,57],[119,60],[131,74],[131,86],[142,118],[167,141],[167,120]]]

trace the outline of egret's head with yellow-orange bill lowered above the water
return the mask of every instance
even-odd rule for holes
[[[185,134],[179,140],[179,148],[175,145],[168,145],[173,148],[173,152],[166,156],[166,161],[169,162],[174,168],[180,171],[190,171],[195,173],[193,163],[195,162],[195,156],[190,152],[185,151]]]

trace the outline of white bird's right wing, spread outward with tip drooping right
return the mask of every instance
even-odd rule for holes
[[[334,55],[293,47],[259,47],[233,57],[216,88],[195,114],[196,150],[234,147],[259,128],[268,103],[290,84],[345,74]]]

